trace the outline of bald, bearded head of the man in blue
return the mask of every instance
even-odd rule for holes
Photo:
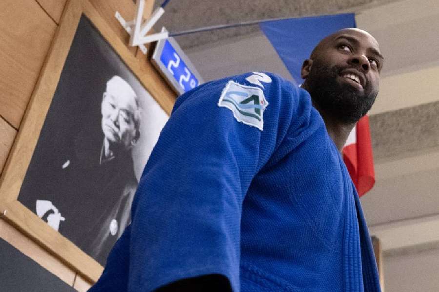
[[[322,39],[304,61],[302,87],[320,110],[340,122],[355,123],[375,101],[382,63],[371,34],[342,29]]]

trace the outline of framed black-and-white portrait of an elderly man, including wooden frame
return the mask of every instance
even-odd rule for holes
[[[0,206],[96,280],[130,223],[172,97],[89,2],[69,1],[57,34],[5,168]]]

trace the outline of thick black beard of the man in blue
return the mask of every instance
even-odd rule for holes
[[[306,89],[321,110],[342,123],[356,123],[372,107],[377,90],[368,82],[363,91],[358,91],[348,83],[337,82],[340,72],[349,67],[329,68],[314,62],[306,79]]]

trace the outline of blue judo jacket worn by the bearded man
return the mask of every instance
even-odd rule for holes
[[[90,292],[226,276],[236,292],[380,291],[355,187],[307,91],[247,73],[177,99]]]

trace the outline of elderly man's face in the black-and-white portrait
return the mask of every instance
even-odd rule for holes
[[[110,144],[128,149],[135,142],[135,96],[124,88],[107,86],[102,100],[102,131]]]

